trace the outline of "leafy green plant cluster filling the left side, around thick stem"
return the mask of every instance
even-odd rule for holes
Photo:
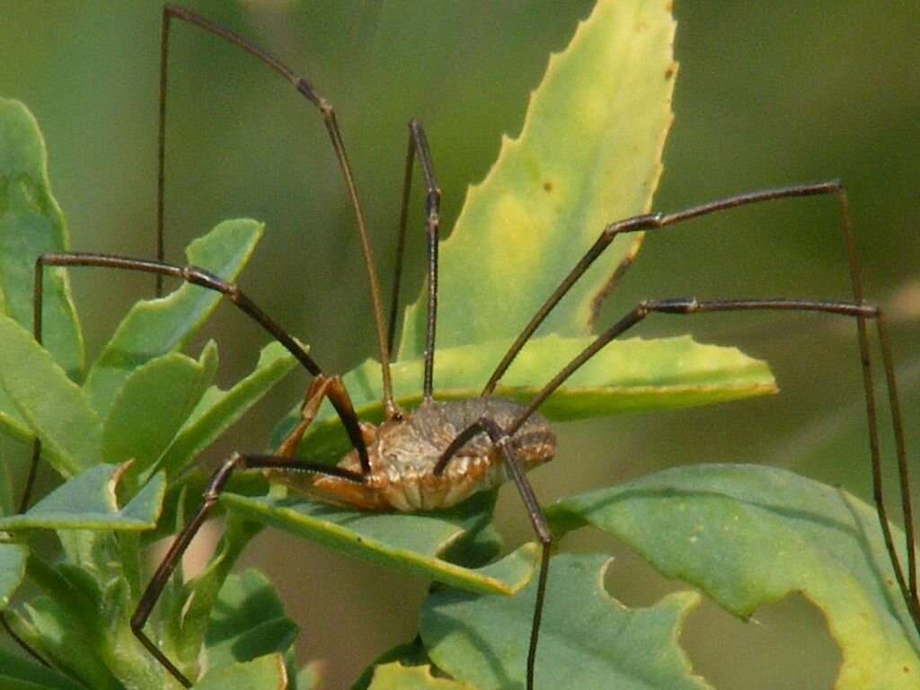
[[[33,156],[29,165],[40,170],[43,186],[35,187],[22,171],[17,173],[21,179],[10,181],[6,176],[0,182],[7,186],[10,199],[28,191],[31,201],[51,214],[43,232],[53,241],[42,238],[39,230],[44,226],[34,213],[24,213],[12,202],[0,221],[4,233],[0,267],[17,267],[0,276],[4,294],[16,294],[17,305],[30,309],[34,256],[41,251],[66,251],[66,236],[44,177],[44,144],[38,128],[20,104],[0,105],[0,142],[4,143],[0,167],[19,170],[19,159],[25,158],[22,152],[29,152]],[[11,159],[7,161],[6,155]],[[189,260],[233,279],[261,233],[261,225],[252,221],[220,224],[192,243]],[[18,242],[11,239],[17,237]],[[207,344],[197,360],[178,349],[189,342],[221,295],[183,284],[164,299],[135,305],[87,374],[86,383],[78,385],[75,379],[82,374],[75,367],[74,352],[79,351],[82,371],[82,337],[75,314],[63,318],[69,308],[66,276],[61,270],[48,270],[47,275],[46,342],[52,346],[63,342],[51,335],[62,319],[77,328],[75,338],[69,349],[58,345],[46,350],[27,330],[30,311],[27,315],[11,310],[8,300],[3,304],[6,315],[15,318],[0,315],[0,425],[22,441],[38,437],[43,460],[70,478],[21,515],[9,514],[11,503],[5,498],[0,531],[5,538],[26,540],[34,530],[55,530],[63,558],[49,563],[30,554],[25,544],[0,543],[0,601],[17,634],[56,668],[80,679],[79,686],[160,688],[165,672],[129,626],[144,584],[142,540],[136,534],[154,530],[158,520],[174,523],[176,519],[172,512],[161,514],[167,477],[157,467],[177,472],[188,464],[289,372],[294,360],[277,345],[267,347],[255,371],[244,380],[226,391],[209,389],[217,366],[216,346]],[[5,496],[8,489],[4,474]],[[175,510],[174,504],[170,506],[170,511]],[[187,655],[193,658],[193,667],[213,602],[239,551],[256,531],[258,525],[251,524],[231,530],[219,558],[198,580],[203,586],[190,583],[174,597],[178,605],[173,613],[184,624],[176,628],[173,638],[168,634],[165,638],[179,650],[194,647]],[[24,578],[43,593],[32,597],[20,613],[7,604]],[[168,633],[170,627],[164,630]],[[276,648],[289,651],[290,638],[284,644],[276,639]],[[235,663],[224,676],[212,676],[208,682],[220,683],[223,677],[232,686],[280,687],[285,677],[284,669],[278,669],[280,657],[267,659]],[[17,664],[10,666],[4,687],[70,686],[55,684],[55,673],[19,673],[17,669],[29,669],[31,664]],[[24,678],[33,684],[24,684]],[[43,678],[50,679],[47,685]]]

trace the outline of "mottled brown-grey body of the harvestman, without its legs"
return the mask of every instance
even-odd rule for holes
[[[364,484],[339,477],[312,477],[301,490],[320,500],[372,511],[433,511],[449,508],[477,491],[508,478],[500,450],[486,433],[477,434],[454,455],[441,476],[434,466],[458,433],[486,417],[501,429],[511,426],[524,408],[500,397],[422,404],[402,421],[385,422],[368,444],[372,474]],[[526,472],[552,459],[556,435],[533,415],[512,437],[514,457]],[[360,472],[355,451],[339,467]]]

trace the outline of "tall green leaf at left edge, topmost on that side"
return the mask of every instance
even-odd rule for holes
[[[52,196],[39,124],[22,103],[0,98],[0,311],[32,329],[35,259],[66,251],[67,228]],[[44,343],[67,375],[83,374],[83,336],[63,269],[45,269]]]

